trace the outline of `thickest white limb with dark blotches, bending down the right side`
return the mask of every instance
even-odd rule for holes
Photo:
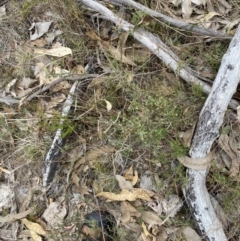
[[[192,158],[205,157],[214,140],[219,135],[219,128],[224,119],[233,94],[240,81],[240,26],[234,35],[199,116],[189,155]],[[188,169],[189,182],[184,189],[188,206],[192,211],[199,231],[205,240],[227,240],[222,224],[218,220],[206,188],[208,170]]]

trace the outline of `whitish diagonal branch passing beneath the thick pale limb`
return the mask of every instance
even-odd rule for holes
[[[180,76],[190,84],[199,85],[206,94],[211,92],[211,86],[195,77],[192,74],[194,71],[189,67],[185,67],[182,61],[158,37],[141,28],[136,29],[134,25],[128,23],[122,18],[119,18],[108,8],[94,0],[79,1],[91,9],[101,13],[104,17],[115,23],[120,29],[131,32],[135,39],[141,42],[159,59],[161,59],[170,69],[176,73],[177,76]],[[236,100],[231,100],[229,103],[229,106],[233,109],[236,109],[238,105],[239,103]]]

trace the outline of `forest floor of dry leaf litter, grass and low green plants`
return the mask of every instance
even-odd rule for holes
[[[87,240],[201,240],[182,193],[186,167],[177,157],[188,154],[186,136],[207,95],[185,83],[131,33],[77,1],[3,2],[0,239],[72,241],[89,234],[95,239]],[[177,1],[139,2],[229,36],[240,21],[237,0],[192,3],[188,17],[174,5]],[[230,39],[176,29],[111,1],[106,6],[158,36],[183,66],[214,81]],[[95,77],[79,81],[70,113],[62,119],[74,83],[67,76],[83,74]],[[66,80],[29,98],[59,78]],[[240,139],[234,112],[226,112],[220,133],[225,139],[213,146],[221,155],[207,177],[231,241],[240,236]],[[65,144],[53,181],[43,188],[45,158],[59,129]],[[102,223],[97,224],[100,231],[92,219]],[[103,231],[111,237],[103,238]]]

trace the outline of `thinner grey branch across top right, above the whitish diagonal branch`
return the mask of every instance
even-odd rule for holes
[[[108,0],[108,1],[110,1],[113,4],[116,2],[116,0]],[[162,13],[154,11],[154,10],[152,10],[152,9],[150,9],[150,8],[140,4],[140,3],[137,3],[133,0],[121,0],[121,3],[124,3],[128,6],[132,6],[136,9],[138,9],[138,10],[141,10],[141,11],[147,13],[148,15],[150,15],[151,17],[158,18],[162,22],[164,22],[166,24],[169,24],[172,27],[183,29],[183,30],[189,31],[191,33],[196,33],[196,34],[211,36],[211,37],[221,37],[221,38],[227,38],[227,39],[232,38],[230,36],[226,36],[224,33],[221,33],[219,31],[202,28],[202,27],[199,27],[199,26],[194,25],[194,24],[190,24],[190,23],[178,20],[178,19],[171,18],[171,17],[166,16]]]

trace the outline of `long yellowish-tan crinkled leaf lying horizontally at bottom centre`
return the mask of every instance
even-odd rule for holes
[[[109,201],[135,201],[137,199],[142,199],[148,202],[151,201],[148,193],[142,189],[133,189],[131,191],[123,189],[120,194],[101,192],[97,196],[107,198]]]

